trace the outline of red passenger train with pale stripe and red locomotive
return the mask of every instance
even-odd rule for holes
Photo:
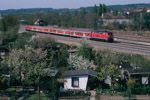
[[[25,28],[27,31],[58,34],[58,35],[71,36],[71,37],[82,37],[82,38],[89,38],[94,40],[104,40],[108,42],[114,41],[113,33],[109,31],[65,29],[65,28],[45,27],[45,26],[26,26]]]

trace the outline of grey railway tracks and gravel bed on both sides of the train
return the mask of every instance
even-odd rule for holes
[[[21,26],[19,32],[25,32],[25,26]],[[44,33],[37,33],[40,37],[51,37],[54,38],[56,41],[65,43],[65,44],[72,44],[72,45],[80,45],[80,41],[83,38],[72,38],[72,37],[65,37],[59,35],[52,35],[52,34],[44,34]],[[142,55],[150,55],[150,40],[146,39],[144,42],[137,41],[137,37],[135,39],[131,39],[130,36],[128,38],[121,38],[119,36],[115,37],[118,39],[114,43],[102,42],[102,41],[93,41],[87,40],[88,44],[92,45],[96,50],[99,49],[110,49],[119,52],[127,52],[127,53],[134,53],[134,54],[142,54]],[[133,38],[133,37],[132,37]]]

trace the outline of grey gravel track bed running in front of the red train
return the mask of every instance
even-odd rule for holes
[[[80,41],[83,40],[83,38],[64,37],[64,36],[51,35],[51,34],[37,33],[37,35],[39,35],[40,37],[49,36],[51,38],[54,38],[58,42],[73,44],[73,45],[80,45]],[[148,45],[125,43],[125,42],[108,43],[108,42],[93,41],[93,40],[87,40],[87,43],[92,45],[97,50],[110,49],[119,52],[150,55],[150,46]]]

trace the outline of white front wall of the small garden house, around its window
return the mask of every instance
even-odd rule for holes
[[[72,77],[79,77],[79,87],[72,87]],[[86,90],[88,75],[69,76],[64,78],[64,89],[82,89]]]

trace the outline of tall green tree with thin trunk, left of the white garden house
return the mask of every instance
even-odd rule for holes
[[[33,49],[26,47],[23,52],[23,66],[22,71],[25,77],[25,82],[33,85],[35,84],[40,93],[41,79],[46,76],[44,69],[46,66],[47,51],[43,51],[41,48]]]

